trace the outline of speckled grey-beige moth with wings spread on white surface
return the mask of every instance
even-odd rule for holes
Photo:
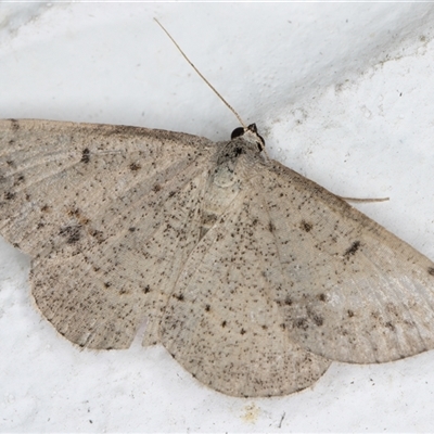
[[[286,395],[333,360],[434,348],[434,264],[264,152],[182,132],[0,122],[0,233],[85,348],[162,344],[221,393]]]

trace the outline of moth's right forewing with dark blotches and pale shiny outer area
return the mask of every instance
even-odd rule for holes
[[[261,176],[284,273],[271,299],[290,336],[358,363],[434,348],[434,264],[288,167],[272,162]]]

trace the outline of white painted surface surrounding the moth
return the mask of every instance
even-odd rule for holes
[[[140,125],[269,153],[434,258],[434,5],[2,3],[0,117]],[[34,309],[29,259],[0,244],[0,431],[433,431],[434,352],[334,363],[311,388],[234,399],[162,347],[79,352]],[[281,429],[279,423],[285,414]]]

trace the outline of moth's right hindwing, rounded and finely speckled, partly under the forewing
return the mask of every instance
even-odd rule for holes
[[[190,255],[165,309],[162,342],[219,392],[285,395],[315,383],[330,361],[290,337],[271,297],[284,276],[265,199],[250,178]]]

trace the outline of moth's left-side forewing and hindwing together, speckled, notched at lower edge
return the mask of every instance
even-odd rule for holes
[[[68,340],[126,348],[199,240],[215,144],[144,128],[0,123],[1,234],[33,257],[33,294]]]

